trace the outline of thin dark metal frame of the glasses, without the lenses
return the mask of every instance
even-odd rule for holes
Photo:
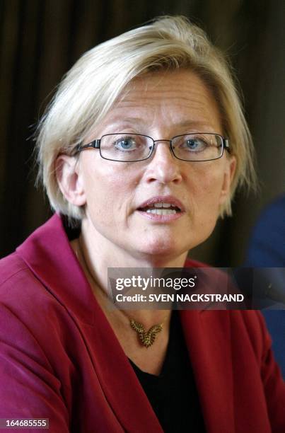
[[[151,139],[151,141],[153,142],[153,145],[150,148],[149,151],[149,156],[146,156],[146,158],[143,159],[134,159],[132,161],[122,161],[120,159],[111,159],[111,158],[105,158],[105,156],[102,156],[101,153],[101,148],[100,148],[100,143],[101,140],[103,139],[103,137],[107,137],[110,135],[115,135],[115,134],[129,134],[129,135],[138,135],[139,137],[146,137]],[[221,143],[222,143],[222,151],[221,151],[221,156],[218,156],[217,158],[211,158],[211,159],[195,159],[194,161],[189,160],[189,159],[183,159],[183,158],[179,158],[178,156],[175,155],[174,153],[174,149],[173,149],[173,140],[178,138],[178,137],[183,137],[185,135],[191,135],[191,134],[209,134],[209,135],[216,135],[218,137],[221,138]],[[146,159],[151,158],[151,155],[154,154],[155,149],[156,149],[156,143],[158,142],[168,142],[169,143],[169,147],[170,147],[170,152],[171,154],[173,154],[173,156],[177,159],[179,159],[180,161],[187,161],[187,162],[207,162],[207,161],[215,161],[216,159],[220,159],[223,156],[223,151],[226,150],[228,151],[229,154],[231,154],[231,146],[229,144],[229,141],[227,138],[223,137],[221,134],[215,134],[214,132],[188,132],[186,134],[179,134],[179,135],[175,135],[175,137],[172,137],[172,139],[167,140],[167,139],[158,139],[158,140],[153,140],[152,137],[149,137],[149,135],[145,135],[145,134],[132,134],[132,133],[128,133],[128,132],[113,132],[112,134],[104,134],[100,139],[95,139],[93,140],[93,142],[88,143],[88,144],[83,144],[83,143],[79,143],[76,148],[75,148],[75,153],[74,156],[76,154],[78,154],[81,151],[84,150],[88,150],[88,149],[99,149],[100,152],[100,156],[103,159],[106,159],[107,161],[115,161],[115,162],[124,162],[124,163],[132,163],[132,162],[139,162],[139,161],[146,161]]]

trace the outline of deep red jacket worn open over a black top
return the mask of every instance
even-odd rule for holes
[[[207,432],[284,433],[260,313],[180,318]],[[57,215],[0,261],[0,418],[11,417],[49,418],[51,433],[162,432]]]

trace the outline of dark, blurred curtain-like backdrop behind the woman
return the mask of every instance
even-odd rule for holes
[[[192,252],[238,266],[252,225],[285,192],[285,2],[283,0],[1,0],[0,257],[51,214],[35,189],[33,140],[62,75],[86,50],[162,14],[183,14],[228,54],[255,142],[260,192],[240,191],[233,217]]]

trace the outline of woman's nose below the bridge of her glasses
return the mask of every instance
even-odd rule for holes
[[[146,168],[146,180],[163,184],[180,183],[181,163],[173,155],[169,140],[156,140],[153,153]]]

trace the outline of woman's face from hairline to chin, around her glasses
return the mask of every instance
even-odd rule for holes
[[[136,79],[86,143],[115,132],[155,140],[189,132],[223,134],[214,97],[190,71]],[[234,167],[226,152],[216,161],[180,161],[167,142],[158,142],[151,158],[132,163],[107,161],[95,149],[82,151],[78,177],[86,206],[84,224],[103,248],[136,258],[178,257],[213,231]],[[177,205],[180,211],[166,216],[145,212],[153,202]]]

